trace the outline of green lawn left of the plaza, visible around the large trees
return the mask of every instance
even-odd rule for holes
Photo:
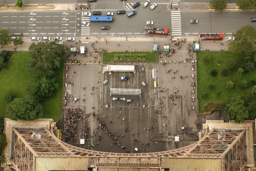
[[[0,71],[0,115],[5,116],[6,114],[6,103],[3,101],[3,95],[7,90],[14,90],[17,98],[29,94],[26,91],[26,86],[32,75],[26,70],[28,59],[29,52],[15,52],[8,64]],[[60,84],[57,93],[54,97],[44,99],[41,102],[45,110],[44,118],[53,118],[55,121],[61,117],[62,112],[63,67],[64,62],[54,75]]]

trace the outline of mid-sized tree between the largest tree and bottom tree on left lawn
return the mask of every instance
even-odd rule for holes
[[[36,100],[42,100],[44,97],[52,97],[56,90],[58,90],[59,84],[56,83],[56,79],[50,79],[41,77],[39,79],[32,78],[26,88]]]

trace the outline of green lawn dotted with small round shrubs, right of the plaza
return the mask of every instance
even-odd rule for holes
[[[211,64],[206,65],[202,61],[204,54],[209,54],[212,56]],[[254,53],[255,55],[256,53]],[[204,113],[204,104],[208,102],[224,102],[228,97],[233,96],[235,93],[247,95],[250,98],[252,96],[252,87],[251,80],[256,78],[256,70],[251,73],[245,73],[241,77],[237,76],[236,71],[238,68],[230,70],[229,61],[231,59],[235,59],[238,61],[241,67],[241,60],[239,55],[236,55],[233,52],[197,52],[197,90],[198,90],[198,105],[199,105],[199,112]],[[218,62],[220,65],[218,65]],[[229,75],[224,77],[221,75],[221,70],[227,67],[229,69]],[[212,70],[217,70],[218,75],[212,77],[210,72]],[[246,80],[248,83],[248,87],[244,90],[240,89],[240,81]],[[226,82],[231,80],[235,83],[232,89],[226,89]],[[209,85],[213,85],[212,89],[209,89]],[[220,92],[219,96],[216,96],[215,93]],[[202,93],[207,93],[207,97],[202,98]]]

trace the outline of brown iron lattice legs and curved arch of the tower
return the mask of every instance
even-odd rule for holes
[[[222,159],[223,171],[238,171],[247,163],[246,130],[212,130],[200,141],[154,153],[111,153],[62,142],[46,128],[12,128],[12,162],[19,171],[34,171],[36,157],[158,157]]]

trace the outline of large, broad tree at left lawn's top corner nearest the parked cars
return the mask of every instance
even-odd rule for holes
[[[61,66],[62,59],[70,54],[70,47],[56,41],[31,43],[28,70],[36,76],[49,76]]]

